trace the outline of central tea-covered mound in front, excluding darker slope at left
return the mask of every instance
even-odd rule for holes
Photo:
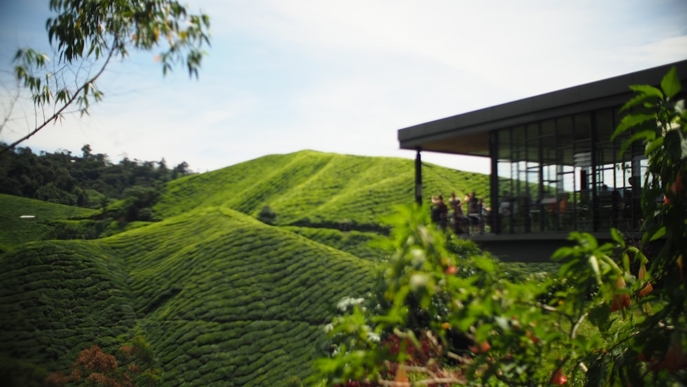
[[[304,377],[333,301],[372,280],[367,261],[232,210],[203,208],[148,229],[107,242],[131,254],[135,309],[172,384]]]

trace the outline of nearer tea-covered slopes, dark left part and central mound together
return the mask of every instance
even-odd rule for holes
[[[372,263],[222,208],[1,257],[0,347],[52,370],[144,332],[170,385],[305,377],[332,305]]]

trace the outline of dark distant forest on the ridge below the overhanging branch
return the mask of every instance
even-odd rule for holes
[[[0,193],[98,209],[127,197],[157,196],[166,182],[193,173],[186,162],[169,168],[165,159],[150,162],[124,157],[114,164],[108,155],[92,153],[88,144],[81,151],[81,155],[71,151],[36,154],[20,147],[3,153]]]

